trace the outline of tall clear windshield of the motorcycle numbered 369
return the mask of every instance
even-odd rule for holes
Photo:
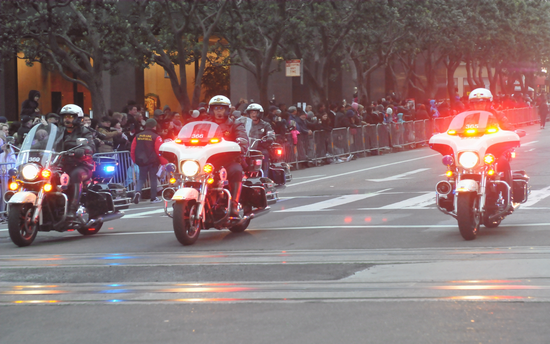
[[[61,151],[63,151],[63,130],[51,123],[36,124],[21,145],[15,167],[20,169],[29,162],[48,167]]]

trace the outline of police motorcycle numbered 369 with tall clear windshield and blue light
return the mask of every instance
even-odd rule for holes
[[[83,235],[96,234],[105,221],[119,219],[124,212],[113,205],[112,193],[117,190],[92,190],[91,180],[83,183],[76,216],[67,217],[69,199],[66,194],[69,176],[62,168],[64,157],[87,144],[76,139],[77,146],[63,150],[63,128],[54,124],[37,124],[27,134],[20,148],[15,167],[8,170],[11,181],[4,194],[8,211],[8,232],[19,247],[30,245],[37,232],[77,230]],[[98,163],[96,176],[107,178],[114,172],[113,163]]]

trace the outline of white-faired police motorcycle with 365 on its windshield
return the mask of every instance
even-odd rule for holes
[[[500,129],[491,112],[466,111],[447,132],[430,139],[430,148],[443,155],[447,167],[447,181],[436,184],[437,208],[458,221],[464,239],[475,239],[481,224],[497,227],[527,201],[525,171],[511,171],[510,178],[509,167],[503,167],[509,166],[505,160],[514,156],[522,136],[524,130]]]

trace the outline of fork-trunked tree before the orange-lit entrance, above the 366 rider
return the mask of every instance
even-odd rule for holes
[[[207,65],[223,64],[221,42],[218,39],[211,44],[211,38],[225,8],[226,1],[133,2],[130,21],[135,25],[135,35],[131,37],[132,42],[145,56],[147,64],[157,63],[166,70],[184,112],[199,104]],[[199,68],[190,100],[185,65],[195,61]],[[179,75],[175,65],[180,66]]]

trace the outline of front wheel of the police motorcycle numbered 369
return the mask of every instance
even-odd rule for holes
[[[10,204],[8,232],[13,243],[19,247],[32,244],[38,233],[38,225],[31,224],[34,206],[31,203]]]

